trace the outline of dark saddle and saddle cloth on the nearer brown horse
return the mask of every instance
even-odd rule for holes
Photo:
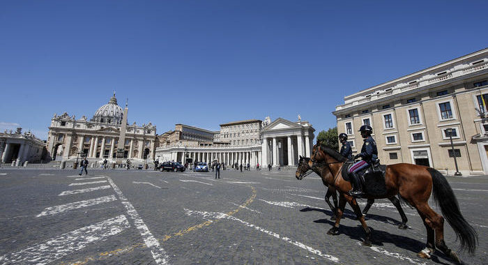
[[[354,161],[346,161],[342,166],[342,178],[345,181],[350,181],[349,168],[352,167]],[[374,162],[370,167],[365,167],[359,172],[356,172],[360,176],[360,183],[363,185],[363,192],[367,195],[374,197],[380,197],[386,195],[386,183],[385,183],[386,165],[380,165],[379,159]]]

